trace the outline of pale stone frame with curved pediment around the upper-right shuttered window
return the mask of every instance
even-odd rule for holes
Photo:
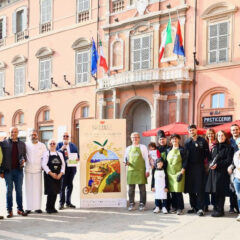
[[[233,55],[233,23],[234,23],[234,14],[237,11],[237,7],[228,2],[218,2],[210,5],[202,14],[201,18],[204,21],[204,30],[206,32],[205,39],[205,56],[206,61],[205,65],[218,65],[218,64],[227,64],[232,62]],[[208,35],[209,35],[209,26],[211,24],[217,24],[221,22],[229,22],[229,39],[228,39],[228,56],[226,62],[209,62],[209,43],[208,43]]]

